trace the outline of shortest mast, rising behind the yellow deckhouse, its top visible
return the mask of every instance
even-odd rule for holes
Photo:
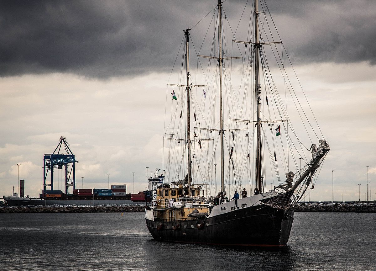
[[[185,29],[185,69],[186,69],[186,93],[187,93],[187,155],[188,155],[188,196],[191,195],[191,112],[190,112],[190,72],[189,72],[189,30]]]

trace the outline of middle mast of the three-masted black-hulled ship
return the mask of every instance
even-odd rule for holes
[[[219,63],[219,109],[220,109],[220,142],[221,142],[221,191],[224,191],[224,145],[223,145],[223,106],[222,106],[222,3],[218,0],[218,63]]]

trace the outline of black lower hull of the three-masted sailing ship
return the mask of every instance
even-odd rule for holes
[[[146,224],[157,241],[280,247],[287,244],[293,220],[293,207],[281,210],[258,205],[205,219],[174,222],[146,219]]]

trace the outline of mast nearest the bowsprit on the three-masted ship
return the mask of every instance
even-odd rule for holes
[[[260,58],[260,35],[259,35],[259,25],[258,25],[258,0],[255,0],[255,72],[256,72],[256,130],[257,130],[257,153],[256,153],[256,183],[260,193],[263,192],[262,189],[262,155],[261,155],[261,114],[260,114],[260,104],[261,104],[261,84],[259,84],[259,58]]]

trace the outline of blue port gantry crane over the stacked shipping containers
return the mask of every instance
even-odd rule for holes
[[[64,148],[66,154],[60,153],[61,147]],[[57,151],[57,152],[56,152]],[[53,190],[53,169],[62,169],[65,167],[65,194],[68,193],[68,187],[73,186],[73,190],[76,189],[76,172],[74,164],[78,163],[74,158],[73,152],[69,148],[69,144],[65,140],[65,137],[60,137],[60,142],[52,154],[45,154],[43,156],[43,192],[45,194],[46,187],[51,186]],[[71,165],[70,171],[68,171],[68,165]],[[51,173],[51,184],[46,184],[47,174]],[[71,174],[73,172],[73,181],[71,180]],[[69,176],[68,176],[69,174]]]

